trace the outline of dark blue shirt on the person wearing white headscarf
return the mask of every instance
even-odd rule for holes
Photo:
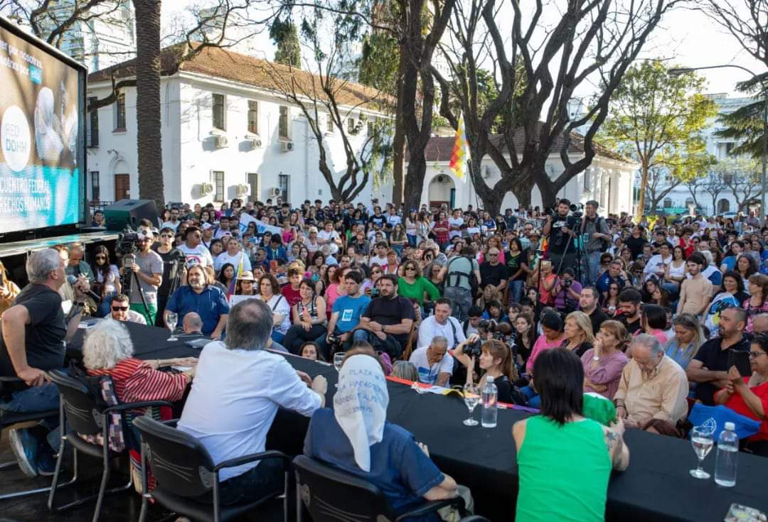
[[[304,438],[304,455],[363,478],[379,488],[397,513],[425,502],[424,494],[442,483],[445,475],[416,445],[412,433],[386,422],[382,442],[371,446],[371,471],[358,468],[349,438],[339,427],[333,409],[318,409]],[[436,514],[409,517],[409,522],[439,520]]]

